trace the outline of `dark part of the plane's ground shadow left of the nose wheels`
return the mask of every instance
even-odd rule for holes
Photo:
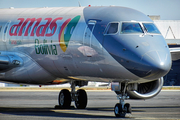
[[[89,108],[76,111],[78,109],[54,109],[54,108],[11,108],[0,107],[1,114],[11,114],[18,116],[41,116],[41,117],[64,117],[64,118],[115,118],[115,116],[103,116],[88,113],[88,111],[105,111],[109,108]],[[112,111],[112,110],[111,110]],[[113,111],[112,111],[113,112]]]

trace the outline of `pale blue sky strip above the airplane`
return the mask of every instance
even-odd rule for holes
[[[0,0],[0,8],[123,6],[146,15],[160,15],[161,20],[180,20],[180,0]]]

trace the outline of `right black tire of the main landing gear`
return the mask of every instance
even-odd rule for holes
[[[83,89],[77,90],[75,105],[77,109],[85,109],[87,105],[87,94]]]

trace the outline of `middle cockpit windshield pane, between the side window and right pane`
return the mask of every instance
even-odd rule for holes
[[[143,33],[143,30],[139,23],[124,22],[124,23],[122,23],[121,33],[122,34]]]

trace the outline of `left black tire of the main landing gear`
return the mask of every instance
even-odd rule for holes
[[[69,90],[67,90],[67,89],[61,90],[61,92],[59,93],[58,101],[59,101],[59,106],[61,108],[64,108],[64,109],[70,108],[71,94],[70,94]]]

